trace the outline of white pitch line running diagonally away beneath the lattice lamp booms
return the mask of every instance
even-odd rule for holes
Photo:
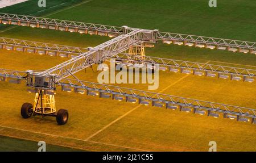
[[[209,62],[209,61],[208,61]],[[208,64],[208,62],[206,62],[205,64]],[[170,88],[171,86],[174,86],[176,83],[180,82],[181,80],[184,80],[184,78],[188,77],[189,74],[187,74],[186,76],[180,78],[179,80],[173,82],[171,85],[165,87],[163,90],[159,91],[159,93],[162,93],[163,91],[167,90],[168,88]],[[109,124],[107,124],[105,127],[101,128],[100,130],[98,130],[97,132],[93,133],[93,135],[87,137],[87,139],[85,139],[86,141],[88,141],[89,139],[92,139],[92,137],[98,135],[98,133],[104,131],[106,128],[112,126],[112,124],[114,124],[115,122],[117,122],[118,120],[124,118],[126,115],[129,115],[131,112],[133,112],[134,110],[136,110],[138,107],[140,107],[142,105],[138,105],[136,107],[134,107],[132,110],[127,111],[125,114],[119,116],[117,119],[113,120],[112,122],[110,122]]]

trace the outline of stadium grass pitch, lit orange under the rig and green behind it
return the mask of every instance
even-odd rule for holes
[[[13,10],[14,6],[9,10],[22,13],[22,5],[20,3],[16,5],[16,10]],[[166,0],[161,3],[94,0],[63,8],[60,12],[56,11],[56,14],[49,12],[51,15],[48,17],[255,41],[255,6],[256,3],[249,0],[246,3],[238,0],[218,1],[215,9],[208,7],[208,2],[203,0]],[[0,12],[4,11],[0,9]],[[109,40],[109,37],[104,36],[27,27],[5,28],[0,35],[77,47],[93,47]],[[67,60],[5,50],[0,52],[0,68],[6,69],[47,69]],[[256,56],[249,53],[162,43],[156,44],[155,48],[146,48],[146,55],[197,62],[209,61],[210,64],[229,62],[231,64],[224,65],[242,68],[255,69],[256,66]],[[92,69],[87,69],[86,73],[79,72],[76,76],[81,80],[97,81],[97,73],[93,73]],[[171,72],[160,72],[159,78],[159,89],[156,92],[256,108],[255,82],[186,77],[184,74]],[[60,90],[55,97],[56,106],[67,108],[70,114],[69,122],[65,126],[57,126],[54,118],[22,119],[20,106],[34,99],[34,94],[27,93],[24,85],[0,82],[0,118],[4,119],[0,122],[0,135],[33,141],[44,140],[49,144],[86,151],[208,151],[208,143],[212,140],[217,142],[217,151],[256,151],[255,125],[250,123],[138,106]],[[147,85],[119,86],[147,90]]]

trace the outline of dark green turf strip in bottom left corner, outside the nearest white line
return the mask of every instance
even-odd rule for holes
[[[37,152],[38,142],[30,140],[15,139],[6,136],[0,136],[0,152]],[[47,152],[75,152],[80,149],[60,147],[57,145],[46,144]]]

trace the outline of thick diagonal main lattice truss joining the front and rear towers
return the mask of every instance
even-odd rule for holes
[[[38,73],[39,76],[55,74],[57,77],[68,77],[70,73],[79,72],[90,65],[104,61],[107,57],[121,53],[141,40],[143,30],[135,30],[126,35],[115,37],[100,44],[88,52],[63,62],[51,69]],[[68,70],[68,72],[67,72]],[[70,72],[70,73],[69,73]]]

